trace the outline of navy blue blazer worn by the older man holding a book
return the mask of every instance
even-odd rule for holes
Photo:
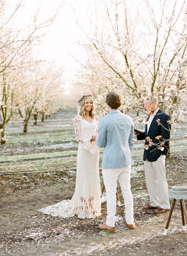
[[[158,125],[157,119],[160,119],[160,123],[163,125]],[[161,135],[163,140],[170,138],[171,125],[167,123],[168,120],[171,120],[170,116],[163,112],[161,109],[155,114],[151,125],[147,133],[147,124],[145,125],[145,131],[143,134],[137,135],[137,140],[145,140],[146,137],[150,137],[153,143],[159,143],[159,140],[155,139],[156,136]],[[165,129],[166,128],[166,129]],[[161,139],[161,141],[162,141]],[[145,141],[145,145],[148,145],[149,142]],[[161,151],[157,146],[150,146],[147,150],[144,148],[144,161],[155,162],[162,155],[167,155],[169,152],[169,143],[168,141],[162,146],[164,150]]]

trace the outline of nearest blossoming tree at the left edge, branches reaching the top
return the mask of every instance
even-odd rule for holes
[[[57,8],[59,9],[59,8]],[[39,40],[46,33],[45,28],[50,26],[58,10],[53,16],[44,20],[40,18],[40,7],[36,8],[28,24],[22,22],[17,25],[18,17],[24,12],[22,1],[11,4],[9,1],[2,1],[0,4],[0,129],[1,144],[6,142],[5,124],[11,119],[15,95],[18,95],[24,84],[24,71],[30,70],[30,63],[35,63],[32,59],[32,48],[39,43]],[[32,59],[28,59],[28,56]],[[32,81],[30,81],[30,84]],[[18,95],[19,96],[19,95]]]

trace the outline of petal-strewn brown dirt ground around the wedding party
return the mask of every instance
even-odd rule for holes
[[[57,117],[59,118],[59,114]],[[54,117],[51,117],[51,120],[52,118]],[[46,126],[49,127],[49,122],[46,122]],[[42,131],[41,134],[48,132]],[[37,146],[33,147],[33,143],[32,146],[22,144],[21,154],[31,154],[36,152],[36,148],[40,153],[42,147],[39,147],[42,143],[42,146],[47,143],[54,144],[40,141],[40,144],[36,142]],[[62,141],[55,143],[63,144]],[[3,155],[14,156],[18,152],[17,147],[14,143],[3,145],[1,154],[3,152]],[[54,148],[46,148],[47,153],[54,152]],[[68,150],[76,150],[76,146],[72,144]],[[63,153],[64,148],[58,151]],[[59,164],[59,158],[63,160],[63,164]],[[0,176],[0,255],[187,255],[187,232],[182,231],[179,200],[175,203],[167,236],[163,236],[163,232],[169,212],[155,214],[154,210],[142,209],[143,205],[149,203],[142,161],[137,162],[134,169],[132,168],[131,177],[135,230],[129,230],[125,223],[123,198],[119,186],[117,191],[122,206],[117,206],[114,233],[98,229],[99,223],[105,223],[106,202],[102,204],[102,215],[96,219],[78,219],[76,216],[62,219],[39,212],[38,210],[43,207],[71,199],[75,190],[76,155],[72,152],[72,155],[56,156],[54,159],[56,162],[51,163],[51,157],[45,157],[41,163],[41,158],[36,157],[12,162],[2,161],[0,158],[1,174],[15,170],[28,172],[35,164],[41,164],[43,169],[45,165],[50,166],[50,170],[59,168],[56,169],[57,172],[51,173],[44,173],[43,170],[43,173]],[[187,185],[186,161],[185,154],[167,158],[169,189],[173,185]],[[101,172],[100,176],[103,184]],[[172,200],[170,199],[171,204]],[[187,208],[187,200],[185,205]]]

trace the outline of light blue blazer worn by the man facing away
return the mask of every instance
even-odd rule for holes
[[[99,120],[96,144],[104,147],[102,168],[133,165],[132,148],[134,125],[132,118],[112,109]]]

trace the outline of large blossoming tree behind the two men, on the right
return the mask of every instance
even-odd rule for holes
[[[87,84],[101,94],[117,89],[124,110],[143,110],[142,95],[157,93],[172,120],[184,120],[187,95],[186,1],[104,1],[90,12],[90,26],[77,20],[88,52]],[[97,17],[97,19],[93,18]],[[102,24],[102,27],[100,26]],[[81,44],[81,42],[80,42]],[[94,81],[94,82],[93,82]]]

